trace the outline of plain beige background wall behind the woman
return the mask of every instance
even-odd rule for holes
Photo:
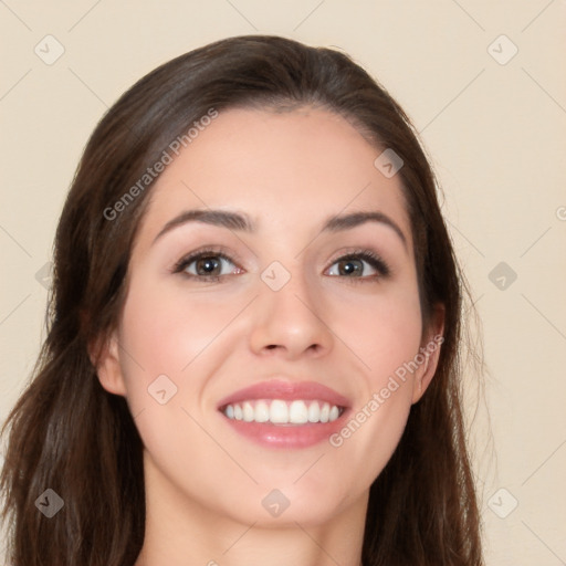
[[[485,411],[474,429],[488,565],[566,564],[566,1],[8,0],[0,15],[2,420],[43,338],[41,270],[105,109],[224,36],[335,45],[406,108],[446,192],[490,370],[492,439]]]

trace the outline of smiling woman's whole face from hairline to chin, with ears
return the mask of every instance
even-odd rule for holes
[[[326,111],[230,109],[158,178],[98,375],[164,501],[303,525],[367,503],[438,354],[380,154]]]

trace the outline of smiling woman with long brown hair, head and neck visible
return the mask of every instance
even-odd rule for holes
[[[93,133],[10,415],[11,563],[481,565],[462,279],[409,118],[277,36]]]

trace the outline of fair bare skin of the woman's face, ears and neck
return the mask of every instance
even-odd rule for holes
[[[136,566],[360,563],[369,486],[440,348],[339,448],[259,447],[217,403],[284,376],[334,388],[355,413],[442,332],[440,314],[423,332],[400,179],[374,166],[380,153],[324,109],[230,109],[151,189],[119,325],[98,365],[103,387],[126,397],[145,446],[146,538]],[[189,222],[154,243],[179,212],[207,208],[245,213],[256,231]],[[378,222],[321,233],[329,216],[369,210],[394,220],[406,244]],[[219,281],[171,273],[207,244],[233,262],[223,262]],[[357,249],[378,253],[390,275],[363,260],[361,277],[339,272],[336,260]],[[273,261],[291,275],[280,291],[260,277]],[[195,263],[188,269],[197,273]],[[177,392],[160,405],[148,387],[164,374]],[[262,505],[274,489],[290,501],[277,517]]]

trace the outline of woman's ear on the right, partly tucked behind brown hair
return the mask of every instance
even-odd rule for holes
[[[420,356],[418,354],[418,358],[416,357],[416,359],[421,360],[421,364],[419,364],[415,373],[412,382],[412,405],[418,402],[424,395],[437,371],[440,347],[444,342],[444,305],[436,305],[427,332],[423,333],[419,348]]]

